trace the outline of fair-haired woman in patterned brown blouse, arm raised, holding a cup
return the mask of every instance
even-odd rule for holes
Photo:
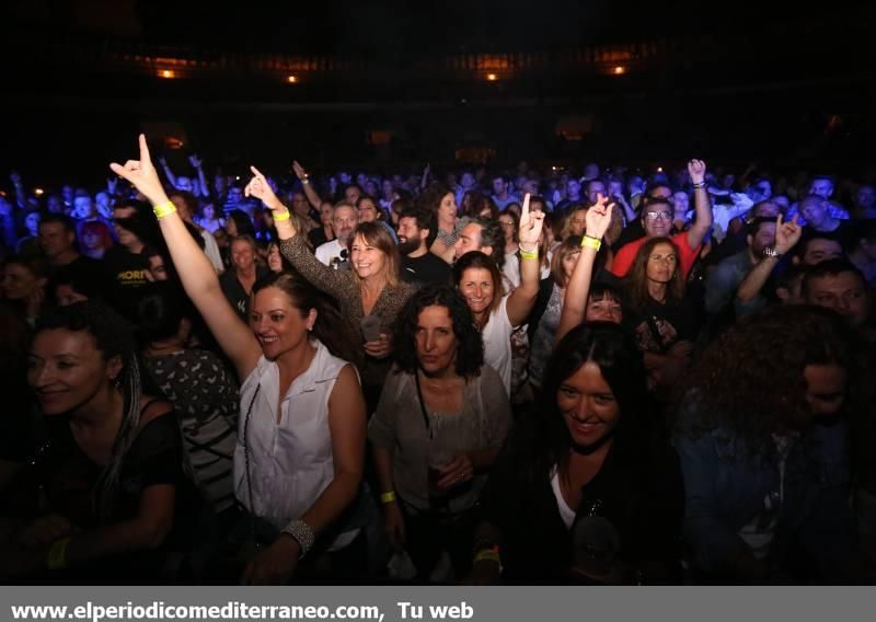
[[[350,235],[350,269],[332,269],[316,260],[304,235],[298,234],[295,221],[285,217],[289,211],[265,176],[254,166],[245,193],[274,210],[280,252],[301,277],[337,300],[346,326],[364,344],[362,388],[368,413],[372,413],[391,365],[392,325],[415,290],[413,285],[399,279],[399,249],[382,224],[361,222]]]

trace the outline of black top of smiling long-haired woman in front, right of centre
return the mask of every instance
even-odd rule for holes
[[[678,458],[668,445],[629,435],[624,439],[619,430],[602,469],[584,487],[568,529],[551,487],[551,473],[533,481],[533,438],[531,422],[519,422],[481,496],[482,518],[502,533],[505,583],[578,583],[572,573],[573,534],[586,527],[583,519],[589,522],[592,517],[610,523],[620,537],[615,558],[632,569],[630,580],[680,580],[684,492]]]

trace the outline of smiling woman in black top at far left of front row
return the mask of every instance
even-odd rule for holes
[[[36,468],[23,473],[33,497],[15,504],[27,520],[0,552],[0,576],[70,566],[71,578],[55,580],[168,579],[160,568],[184,541],[174,537],[191,535],[183,517],[196,507],[173,407],[140,371],[130,331],[103,306],[80,302],[41,319],[27,382],[61,425],[48,426]]]

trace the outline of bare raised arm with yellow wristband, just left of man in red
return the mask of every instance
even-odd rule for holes
[[[611,212],[614,204],[606,205],[608,198],[599,195],[597,203],[587,210],[587,231],[581,240],[581,253],[566,284],[566,296],[560,313],[560,325],[556,327],[556,342],[566,333],[584,322],[587,315],[587,298],[590,295],[590,281],[593,277],[596,255],[602,244],[602,238],[611,224]]]

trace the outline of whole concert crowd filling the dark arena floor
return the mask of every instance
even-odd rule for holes
[[[0,195],[0,580],[876,578],[866,181],[188,164]]]

